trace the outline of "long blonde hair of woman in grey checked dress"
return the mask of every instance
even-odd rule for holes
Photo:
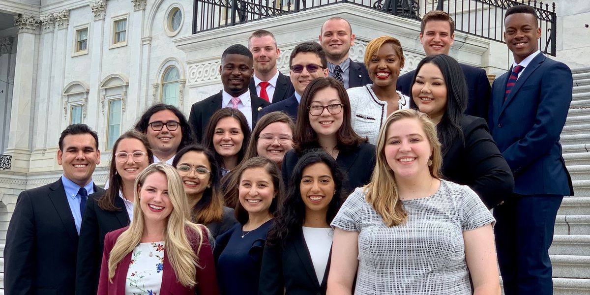
[[[389,168],[385,157],[387,130],[391,127],[392,123],[402,119],[415,119],[422,125],[422,130],[424,130],[428,142],[430,142],[430,146],[432,147],[432,165],[429,166],[430,175],[437,179],[441,178],[441,144],[438,141],[437,128],[430,120],[430,117],[425,113],[412,109],[397,110],[389,115],[377,139],[377,163],[373,170],[373,175],[371,175],[371,182],[363,189],[365,191],[366,201],[372,205],[375,211],[381,214],[383,222],[388,227],[400,225],[408,218],[408,214],[399,199],[395,175],[391,171],[391,168]]]

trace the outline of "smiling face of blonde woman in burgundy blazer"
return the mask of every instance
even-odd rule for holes
[[[172,212],[168,196],[168,179],[162,172],[153,172],[146,177],[139,189],[139,205],[147,222],[166,222]]]

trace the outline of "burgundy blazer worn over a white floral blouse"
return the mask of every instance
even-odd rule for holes
[[[97,294],[115,294],[124,295],[127,280],[127,271],[129,270],[129,262],[131,261],[131,254],[127,254],[125,258],[119,263],[115,270],[113,283],[109,281],[109,256],[113,249],[114,243],[119,238],[119,235],[126,231],[129,227],[120,228],[109,232],[104,238],[103,262],[100,267],[99,291]],[[192,231],[187,231],[189,240],[196,240],[196,234]],[[196,253],[198,245],[193,244],[193,249]],[[160,294],[186,294],[186,295],[217,295],[219,294],[217,286],[217,276],[215,272],[215,261],[213,260],[213,253],[207,235],[204,235],[199,251],[199,266],[196,268],[196,286],[194,288],[182,286],[176,279],[176,273],[172,270],[166,250],[164,250],[164,271],[162,273],[162,286],[160,287]]]

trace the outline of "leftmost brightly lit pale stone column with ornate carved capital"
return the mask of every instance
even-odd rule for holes
[[[34,121],[31,104],[35,103],[35,55],[40,19],[30,15],[15,17],[18,27],[17,66],[14,72],[14,91],[10,131],[6,154],[12,156],[12,171],[28,172],[31,158],[31,123]]]

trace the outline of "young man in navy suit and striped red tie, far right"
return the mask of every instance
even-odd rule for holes
[[[504,294],[553,294],[549,246],[563,196],[573,195],[559,135],[572,101],[572,72],[538,48],[535,9],[509,8],[510,71],[491,87],[490,133],[514,175],[514,194],[494,208]]]

